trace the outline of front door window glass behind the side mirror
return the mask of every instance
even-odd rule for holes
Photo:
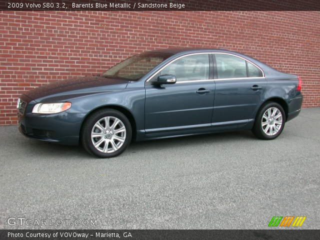
[[[209,55],[195,54],[181,57],[164,67],[153,78],[159,75],[174,75],[176,81],[209,79]]]

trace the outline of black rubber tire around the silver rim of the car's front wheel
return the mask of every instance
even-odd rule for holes
[[[101,138],[98,137],[98,138],[91,139],[91,131],[92,131],[93,126],[95,125],[95,123],[98,120],[100,120],[103,117],[108,117],[108,116],[110,118],[116,117],[121,121],[121,124],[123,123],[123,125],[125,127],[125,140],[117,150],[114,150],[113,152],[102,152],[102,151],[98,150],[93,145],[93,142],[95,142],[96,139],[101,139],[103,137],[105,138],[106,136],[104,135]],[[111,122],[112,122],[112,120],[111,120]],[[103,124],[103,120],[102,120],[102,124]],[[98,134],[102,134],[102,131],[98,132]],[[104,108],[104,109],[93,112],[91,115],[89,115],[89,117],[83,123],[82,131],[81,131],[81,144],[87,152],[89,152],[90,154],[93,154],[95,156],[114,157],[114,156],[121,154],[127,148],[127,146],[130,144],[131,137],[132,137],[132,128],[131,128],[131,124],[130,124],[129,120],[127,119],[127,117],[122,112],[117,111],[115,109]],[[119,144],[118,141],[113,141],[113,142],[117,142]],[[102,141],[101,145],[100,145],[102,147],[100,147],[100,148],[103,148],[104,144],[105,143],[103,143],[103,141]],[[110,145],[111,143],[108,143],[108,144]],[[108,148],[108,144],[106,144],[107,145],[106,149]],[[111,145],[111,147],[113,148],[112,145]]]

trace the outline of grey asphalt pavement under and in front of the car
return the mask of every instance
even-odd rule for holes
[[[0,228],[266,229],[272,216],[306,216],[299,228],[319,229],[319,119],[306,108],[274,140],[186,136],[110,159],[1,126]]]

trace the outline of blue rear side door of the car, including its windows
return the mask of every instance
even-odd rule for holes
[[[263,72],[246,59],[213,54],[215,96],[212,125],[239,125],[251,121],[266,87]]]

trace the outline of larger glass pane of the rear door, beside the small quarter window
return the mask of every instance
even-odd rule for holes
[[[215,54],[217,78],[247,77],[245,60],[228,54]]]

